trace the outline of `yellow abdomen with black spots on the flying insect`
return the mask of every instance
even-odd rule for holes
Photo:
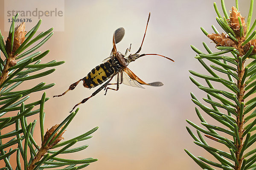
[[[83,78],[85,88],[94,88],[109,79],[113,74],[119,71],[119,67],[113,67],[109,62],[93,68],[86,77]]]

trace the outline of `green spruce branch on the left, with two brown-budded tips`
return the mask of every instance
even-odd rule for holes
[[[53,167],[75,170],[87,167],[91,162],[97,161],[97,159],[73,160],[61,159],[56,156],[59,154],[76,153],[86,149],[88,147],[86,144],[81,147],[70,147],[77,142],[90,139],[92,137],[90,134],[95,132],[98,127],[73,139],[60,142],[64,139],[62,135],[65,129],[70,125],[79,109],[68,115],[59,125],[54,125],[45,132],[44,118],[47,114],[44,113],[44,105],[49,100],[49,97],[44,93],[41,99],[37,101],[29,103],[27,99],[29,99],[30,94],[51,88],[55,83],[46,85],[46,83],[41,82],[34,87],[15,91],[15,88],[22,82],[45,77],[55,71],[55,68],[49,68],[64,63],[64,61],[57,62],[56,60],[41,63],[41,59],[47,56],[49,50],[43,53],[36,51],[52,36],[53,28],[49,28],[47,31],[36,35],[41,25],[41,20],[27,32],[25,30],[25,23],[21,23],[15,28],[14,20],[17,17],[18,14],[13,17],[6,43],[4,43],[0,31],[0,50],[4,54],[4,59],[0,58],[0,159],[3,159],[6,164],[5,167],[0,169],[13,170],[16,164],[17,170],[21,170],[22,165],[25,170]],[[40,42],[35,44],[38,41]],[[33,47],[31,48],[32,45]],[[30,73],[33,75],[29,75]],[[37,105],[40,105],[40,108],[34,109]],[[17,115],[11,116],[9,111],[17,111]],[[28,122],[27,117],[38,113],[40,133],[34,133],[35,125],[38,121],[35,119],[33,122]],[[6,127],[11,128],[12,125],[15,125],[12,131],[1,134],[1,130]],[[34,135],[38,134],[41,136],[41,147],[39,147],[40,145],[34,139]],[[3,143],[2,139],[8,139],[9,141]],[[61,149],[53,150],[61,146],[63,146]],[[11,147],[8,149],[9,151],[7,150],[8,147]],[[16,164],[12,165],[10,158],[15,154]]]

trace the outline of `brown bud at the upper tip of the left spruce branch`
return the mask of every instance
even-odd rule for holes
[[[26,24],[23,22],[23,23],[20,23],[20,25],[15,28],[12,51],[11,51],[12,33],[9,34],[9,37],[6,40],[6,51],[8,55],[10,55],[11,53],[14,54],[15,51],[20,47],[20,45],[25,41],[26,39],[25,26]]]

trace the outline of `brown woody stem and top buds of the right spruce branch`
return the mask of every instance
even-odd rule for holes
[[[241,25],[239,23],[239,18],[241,20]],[[232,11],[230,11],[230,19],[227,20],[230,28],[234,31],[235,37],[238,40],[234,41],[230,36],[227,34],[208,34],[207,37],[209,37],[213,42],[216,43],[216,46],[224,46],[224,47],[234,47],[239,51],[239,55],[237,55],[237,74],[239,79],[237,80],[237,88],[239,88],[239,92],[236,94],[237,99],[239,103],[244,102],[244,88],[245,88],[245,83],[241,84],[241,80],[244,76],[244,71],[245,71],[245,60],[242,61],[242,63],[239,64],[239,57],[244,56],[247,51],[250,49],[251,45],[253,45],[253,51],[251,54],[256,54],[256,40],[250,40],[247,44],[242,46],[242,43],[245,41],[245,36],[246,36],[246,23],[244,21],[244,17],[241,16],[240,12],[236,9],[236,7],[232,7]],[[243,28],[243,32],[240,37],[240,29],[241,27]],[[241,68],[240,68],[241,65]],[[245,105],[244,105],[245,107]],[[242,118],[240,118],[240,106],[238,105],[236,107],[236,112],[238,113],[238,116],[236,117],[236,125],[238,126],[238,131],[239,131],[239,139],[236,139],[235,141],[235,146],[237,148],[236,150],[236,159],[238,161],[238,164],[235,165],[235,170],[241,170],[241,165],[243,162],[243,156],[241,155],[241,149],[244,145],[244,140],[243,140],[243,133],[244,133],[244,115],[242,115]],[[241,121],[240,121],[241,119]],[[208,138],[212,139],[210,136],[207,136]],[[214,140],[214,139],[213,139]]]

